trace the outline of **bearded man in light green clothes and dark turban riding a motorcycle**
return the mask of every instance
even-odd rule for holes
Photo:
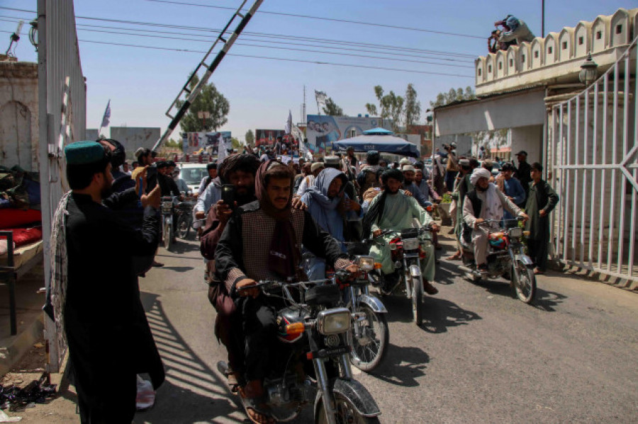
[[[364,217],[364,236],[372,232],[372,235],[379,239],[381,231],[393,229],[401,231],[412,227],[413,219],[418,219],[422,227],[432,224],[432,230],[438,231],[439,227],[432,221],[432,217],[422,207],[414,197],[409,197],[401,193],[401,183],[403,183],[403,173],[398,169],[389,169],[381,174],[381,179],[385,190],[381,195],[374,197],[370,202],[370,207]],[[370,254],[374,256],[375,262],[381,263],[381,271],[386,276],[386,286],[382,288],[390,292],[398,281],[398,275],[394,269],[389,242],[393,234],[387,234],[381,243],[375,243],[370,248]],[[437,294],[439,291],[430,284],[435,277],[435,251],[431,244],[422,246],[425,248],[427,259],[421,261],[421,275],[423,289],[427,294]]]

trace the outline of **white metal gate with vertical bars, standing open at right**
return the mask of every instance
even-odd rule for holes
[[[638,282],[637,39],[598,81],[548,108],[547,175],[564,263]]]

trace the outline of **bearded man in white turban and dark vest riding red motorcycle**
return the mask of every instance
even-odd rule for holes
[[[479,224],[487,219],[499,222],[503,219],[503,209],[513,216],[527,219],[527,215],[519,207],[498,190],[496,185],[490,183],[490,177],[491,173],[487,169],[474,169],[470,177],[474,190],[467,193],[463,203],[463,220],[472,229],[474,260],[480,272],[487,271],[488,227]],[[489,227],[498,228],[499,224],[496,222],[489,224]]]

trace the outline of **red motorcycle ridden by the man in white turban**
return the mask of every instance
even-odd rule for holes
[[[508,222],[517,222],[518,219],[506,219]],[[498,224],[498,228],[492,228],[491,224]],[[522,236],[525,231],[520,227],[504,228],[497,219],[486,219],[479,224],[488,227],[488,254],[486,273],[481,273],[476,268],[474,261],[474,249],[472,246],[463,245],[463,265],[459,269],[464,271],[466,278],[472,282],[479,282],[487,278],[504,277],[510,280],[515,296],[522,302],[530,304],[536,295],[536,275],[534,264],[525,254],[525,246]]]

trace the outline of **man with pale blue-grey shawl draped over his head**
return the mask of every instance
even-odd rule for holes
[[[314,185],[301,196],[301,202],[308,207],[310,215],[324,231],[341,243],[343,252],[347,251],[344,244],[347,221],[359,219],[361,213],[359,202],[345,193],[348,182],[345,173],[335,168],[325,168],[315,179]],[[325,260],[322,258],[308,258],[304,268],[310,280],[325,278]]]

